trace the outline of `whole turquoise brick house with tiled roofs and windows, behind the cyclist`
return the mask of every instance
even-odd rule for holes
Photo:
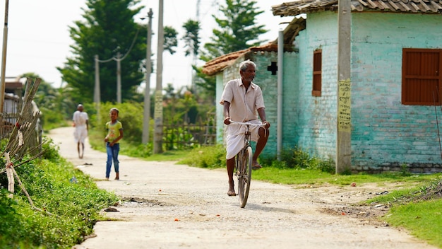
[[[357,0],[351,7],[352,170],[376,173],[401,170],[406,164],[412,172],[441,172],[442,2]],[[273,125],[264,152],[276,153],[282,143],[283,149],[298,146],[335,160],[338,0],[292,1],[272,8],[274,16],[294,16],[284,31],[282,95],[277,95],[277,75],[267,71],[277,62],[277,50],[261,52],[255,47],[237,52],[235,59],[220,57],[205,65],[212,69],[206,73],[217,76],[219,99],[224,83],[238,76],[239,62],[254,60],[255,81],[263,88]],[[283,103],[279,136],[277,98]],[[222,120],[221,106],[218,109],[217,120]],[[222,139],[222,123],[217,125]]]

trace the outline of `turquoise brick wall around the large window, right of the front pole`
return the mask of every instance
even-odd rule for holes
[[[440,23],[436,15],[353,13],[355,170],[442,171],[434,106],[401,103],[402,48],[441,48]]]

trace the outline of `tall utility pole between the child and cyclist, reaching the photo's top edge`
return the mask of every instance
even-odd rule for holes
[[[153,153],[162,153],[162,52],[165,43],[164,27],[162,25],[163,0],[158,4],[158,43],[157,43],[157,88],[155,91],[155,129]]]

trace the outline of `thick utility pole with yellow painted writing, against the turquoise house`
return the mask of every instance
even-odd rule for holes
[[[338,1],[338,115],[336,138],[336,173],[350,172],[352,167],[351,119],[351,0]]]

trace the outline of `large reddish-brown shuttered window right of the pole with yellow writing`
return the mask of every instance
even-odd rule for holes
[[[441,105],[442,50],[402,49],[402,105]]]

